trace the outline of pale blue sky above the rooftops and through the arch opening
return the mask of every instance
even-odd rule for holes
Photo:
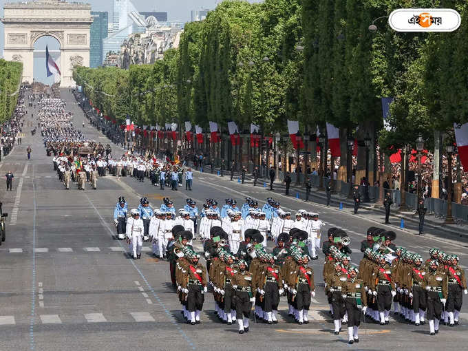
[[[31,0],[29,0],[31,1]],[[112,20],[112,0],[88,0],[77,1],[90,3],[93,11],[109,12],[109,21]],[[70,1],[70,2],[74,2]],[[262,0],[249,0],[250,2],[259,2]],[[19,2],[13,0],[0,0],[1,14],[3,17],[3,4],[6,2]],[[208,8],[213,10],[219,0],[131,0],[138,11],[146,12],[156,10],[158,12],[167,12],[169,21],[190,21],[191,10],[200,10]],[[58,42],[50,37],[44,37],[36,42],[34,48],[36,50],[45,50],[45,45],[49,45],[50,50],[58,50]],[[3,52],[3,24],[0,23],[0,47]],[[51,47],[53,49],[51,49]],[[43,55],[41,55],[43,56]],[[56,58],[56,55],[52,55]],[[34,78],[44,83],[50,83],[50,79],[45,78],[45,57],[34,58]],[[51,77],[52,78],[52,77]]]

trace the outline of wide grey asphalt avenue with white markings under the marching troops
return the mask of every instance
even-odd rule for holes
[[[63,91],[68,108],[75,112],[74,124],[81,126],[83,114],[74,98]],[[30,116],[30,114],[29,114]],[[28,118],[28,116],[27,116]],[[35,118],[34,118],[35,119]],[[149,245],[142,259],[134,261],[127,246],[114,240],[112,211],[118,196],[138,205],[142,196],[159,206],[169,196],[175,207],[191,197],[201,206],[206,198],[246,196],[262,204],[272,195],[263,187],[230,182],[227,177],[195,173],[193,191],[151,187],[148,180],[107,176],[98,180],[98,189],[67,191],[53,171],[52,158],[45,155],[41,135],[30,136],[25,128],[23,145],[0,163],[0,172],[12,169],[13,191],[0,193],[7,219],[7,239],[0,246],[0,350],[432,350],[465,348],[468,341],[468,313],[462,308],[460,326],[441,326],[435,337],[429,326],[412,326],[393,315],[390,324],[364,323],[360,343],[348,345],[343,330],[332,334],[332,321],[323,293],[321,259],[313,262],[319,285],[310,311],[310,323],[299,326],[287,314],[286,300],[280,304],[280,320],[273,326],[252,323],[251,332],[240,335],[237,325],[227,326],[214,318],[211,294],[206,296],[202,323],[183,323],[180,304],[171,288],[167,262],[153,259]],[[85,134],[107,142],[96,129],[85,127]],[[29,135],[28,135],[29,133]],[[32,145],[32,160],[26,148]],[[114,151],[116,153],[117,151]],[[375,217],[367,213],[352,215],[321,204],[305,203],[275,193],[284,209],[306,209],[320,213],[330,226],[344,228],[352,239],[352,262],[358,264],[361,240]],[[17,219],[12,213],[18,213]],[[368,218],[369,217],[369,218]],[[394,227],[392,227],[394,228]],[[427,257],[433,246],[468,259],[468,244],[439,237],[423,237],[396,231],[396,244]],[[271,245],[271,244],[270,244]],[[200,248],[200,242],[195,245]]]

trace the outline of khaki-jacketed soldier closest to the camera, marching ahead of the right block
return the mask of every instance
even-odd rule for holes
[[[359,270],[350,268],[350,278],[343,283],[343,299],[345,299],[346,312],[348,313],[348,343],[359,343],[358,329],[361,324],[361,312],[365,313],[368,305],[363,280],[357,277]]]

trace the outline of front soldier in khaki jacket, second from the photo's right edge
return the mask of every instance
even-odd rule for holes
[[[439,320],[443,306],[447,301],[447,275],[437,269],[438,262],[429,263],[429,271],[424,277],[425,290],[427,290],[427,320],[431,335],[438,333]]]

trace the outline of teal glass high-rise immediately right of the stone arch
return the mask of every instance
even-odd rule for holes
[[[93,23],[91,25],[89,41],[89,67],[99,67],[103,64],[103,39],[107,38],[108,13],[107,11],[92,11]]]

